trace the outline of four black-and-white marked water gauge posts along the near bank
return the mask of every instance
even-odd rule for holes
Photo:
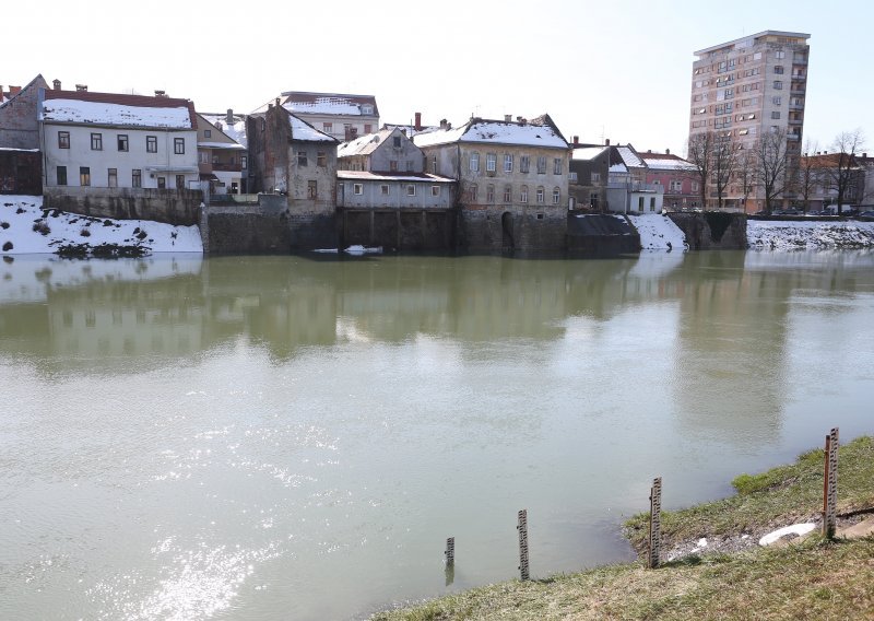
[[[823,535],[827,538],[835,536],[837,525],[838,504],[838,427],[831,430],[826,436],[826,450],[823,482]],[[652,481],[649,495],[649,544],[647,566],[656,569],[661,564],[661,512],[662,512],[662,479]],[[528,509],[518,514],[516,529],[519,531],[519,577],[529,579],[528,562]],[[456,538],[446,540],[446,576],[447,586],[452,584],[456,566]]]

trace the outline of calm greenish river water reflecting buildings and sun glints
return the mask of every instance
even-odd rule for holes
[[[363,618],[518,576],[521,508],[534,577],[631,559],[654,477],[874,431],[872,268],[7,258],[0,618]]]

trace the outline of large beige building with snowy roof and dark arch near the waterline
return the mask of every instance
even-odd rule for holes
[[[548,115],[471,118],[413,137],[426,169],[459,181],[459,245],[471,251],[565,247],[570,148]]]

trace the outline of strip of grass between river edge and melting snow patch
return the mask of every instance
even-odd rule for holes
[[[741,535],[769,526],[786,526],[823,509],[822,449],[799,456],[794,464],[732,481],[737,493],[694,507],[662,512],[662,549],[714,535]],[[863,436],[841,446],[838,455],[838,512],[874,505],[874,438]],[[626,522],[626,535],[638,551],[646,547],[649,514]]]

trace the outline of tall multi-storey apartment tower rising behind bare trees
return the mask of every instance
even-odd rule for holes
[[[696,51],[689,139],[712,131],[717,140],[730,140],[741,150],[751,149],[763,132],[782,129],[790,157],[800,156],[808,38],[805,33],[765,31]],[[754,190],[745,198],[732,181],[725,204],[752,212],[764,206],[760,195]],[[784,200],[791,198],[784,195]]]

